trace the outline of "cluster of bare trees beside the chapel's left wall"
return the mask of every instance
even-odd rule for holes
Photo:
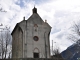
[[[7,55],[10,54],[11,48],[11,35],[10,35],[10,31],[9,28],[4,28],[4,30],[1,31],[1,37],[0,37],[0,48],[1,48],[1,55],[2,55],[2,59],[6,59]],[[9,48],[9,49],[8,49]]]

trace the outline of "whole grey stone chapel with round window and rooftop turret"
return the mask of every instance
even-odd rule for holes
[[[50,58],[51,26],[32,9],[32,15],[16,24],[12,35],[12,58]]]

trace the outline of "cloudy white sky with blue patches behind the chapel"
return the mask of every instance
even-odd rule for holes
[[[32,15],[34,6],[40,17],[52,27],[50,33],[50,47],[60,48],[60,52],[72,45],[67,38],[71,27],[80,20],[80,0],[0,0],[0,24],[14,29],[16,23]]]

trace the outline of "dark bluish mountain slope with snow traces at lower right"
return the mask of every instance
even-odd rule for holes
[[[61,53],[66,60],[78,60],[80,58],[80,45],[73,44]]]

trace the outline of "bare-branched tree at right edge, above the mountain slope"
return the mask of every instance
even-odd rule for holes
[[[74,22],[74,25],[71,27],[71,33],[68,35],[68,39],[72,42],[80,42],[80,25]]]

